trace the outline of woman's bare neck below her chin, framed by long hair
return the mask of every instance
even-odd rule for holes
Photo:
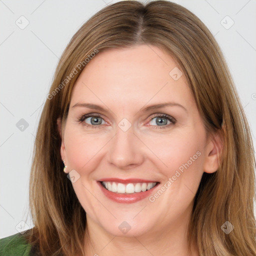
[[[175,219],[165,228],[147,231],[139,236],[116,236],[106,232],[87,216],[85,228],[85,255],[179,255],[199,256],[195,239],[188,253],[186,239],[188,219]]]

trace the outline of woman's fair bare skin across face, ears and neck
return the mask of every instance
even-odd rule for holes
[[[62,131],[57,120],[61,157],[68,171],[80,175],[72,185],[86,212],[88,255],[188,255],[185,234],[194,196],[203,172],[216,171],[221,143],[216,134],[206,139],[185,76],[174,80],[169,75],[174,67],[174,59],[153,45],[100,52],[75,82]],[[72,107],[85,102],[106,111]],[[183,107],[140,111],[163,102]],[[89,113],[99,114],[101,124],[93,124],[90,117],[77,121]],[[176,122],[163,118],[167,123],[157,124],[161,114]],[[131,124],[125,132],[118,126],[123,118]],[[130,204],[114,202],[97,183],[106,177],[141,178],[160,182],[160,188],[197,151],[200,156],[153,202],[148,197]],[[123,221],[131,227],[125,234],[118,228]],[[195,242],[194,256],[199,255]]]

